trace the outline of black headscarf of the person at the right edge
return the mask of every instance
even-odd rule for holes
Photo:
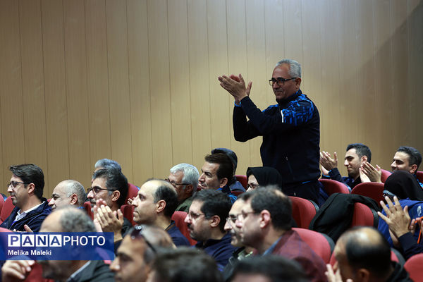
[[[408,171],[392,173],[386,179],[384,188],[400,199],[410,198],[414,201],[423,201],[423,190],[415,176]]]

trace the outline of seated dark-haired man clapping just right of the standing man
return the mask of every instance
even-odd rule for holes
[[[331,154],[322,151],[320,153],[320,164],[323,172],[322,178],[330,178],[347,185],[353,189],[362,182],[381,182],[381,168],[370,164],[372,152],[369,147],[361,143],[348,145],[345,153],[344,166],[348,170],[348,177],[342,177],[338,171],[338,157],[336,152]]]

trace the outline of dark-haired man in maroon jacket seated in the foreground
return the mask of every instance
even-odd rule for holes
[[[281,255],[297,261],[311,281],[326,281],[323,260],[291,229],[292,204],[278,188],[260,187],[240,195],[245,200],[236,226],[244,245],[258,255]]]

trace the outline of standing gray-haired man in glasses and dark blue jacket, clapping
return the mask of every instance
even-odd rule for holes
[[[263,166],[281,173],[284,192],[317,202],[320,118],[316,105],[300,90],[300,63],[284,59],[276,64],[269,83],[278,104],[264,111],[250,99],[252,82],[245,87],[242,75],[222,75],[219,82],[235,99],[235,140],[246,142],[263,136]]]

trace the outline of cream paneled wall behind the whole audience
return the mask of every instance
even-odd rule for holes
[[[1,192],[11,164],[41,166],[49,197],[100,158],[141,185],[214,147],[243,174],[261,140],[235,142],[217,76],[252,80],[264,109],[283,58],[302,63],[321,149],[363,142],[388,169],[400,145],[423,152],[422,50],[421,0],[0,0]]]

